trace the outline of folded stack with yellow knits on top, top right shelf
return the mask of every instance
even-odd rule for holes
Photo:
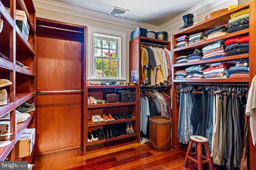
[[[228,33],[249,28],[249,8],[240,10],[230,15],[228,20]]]

